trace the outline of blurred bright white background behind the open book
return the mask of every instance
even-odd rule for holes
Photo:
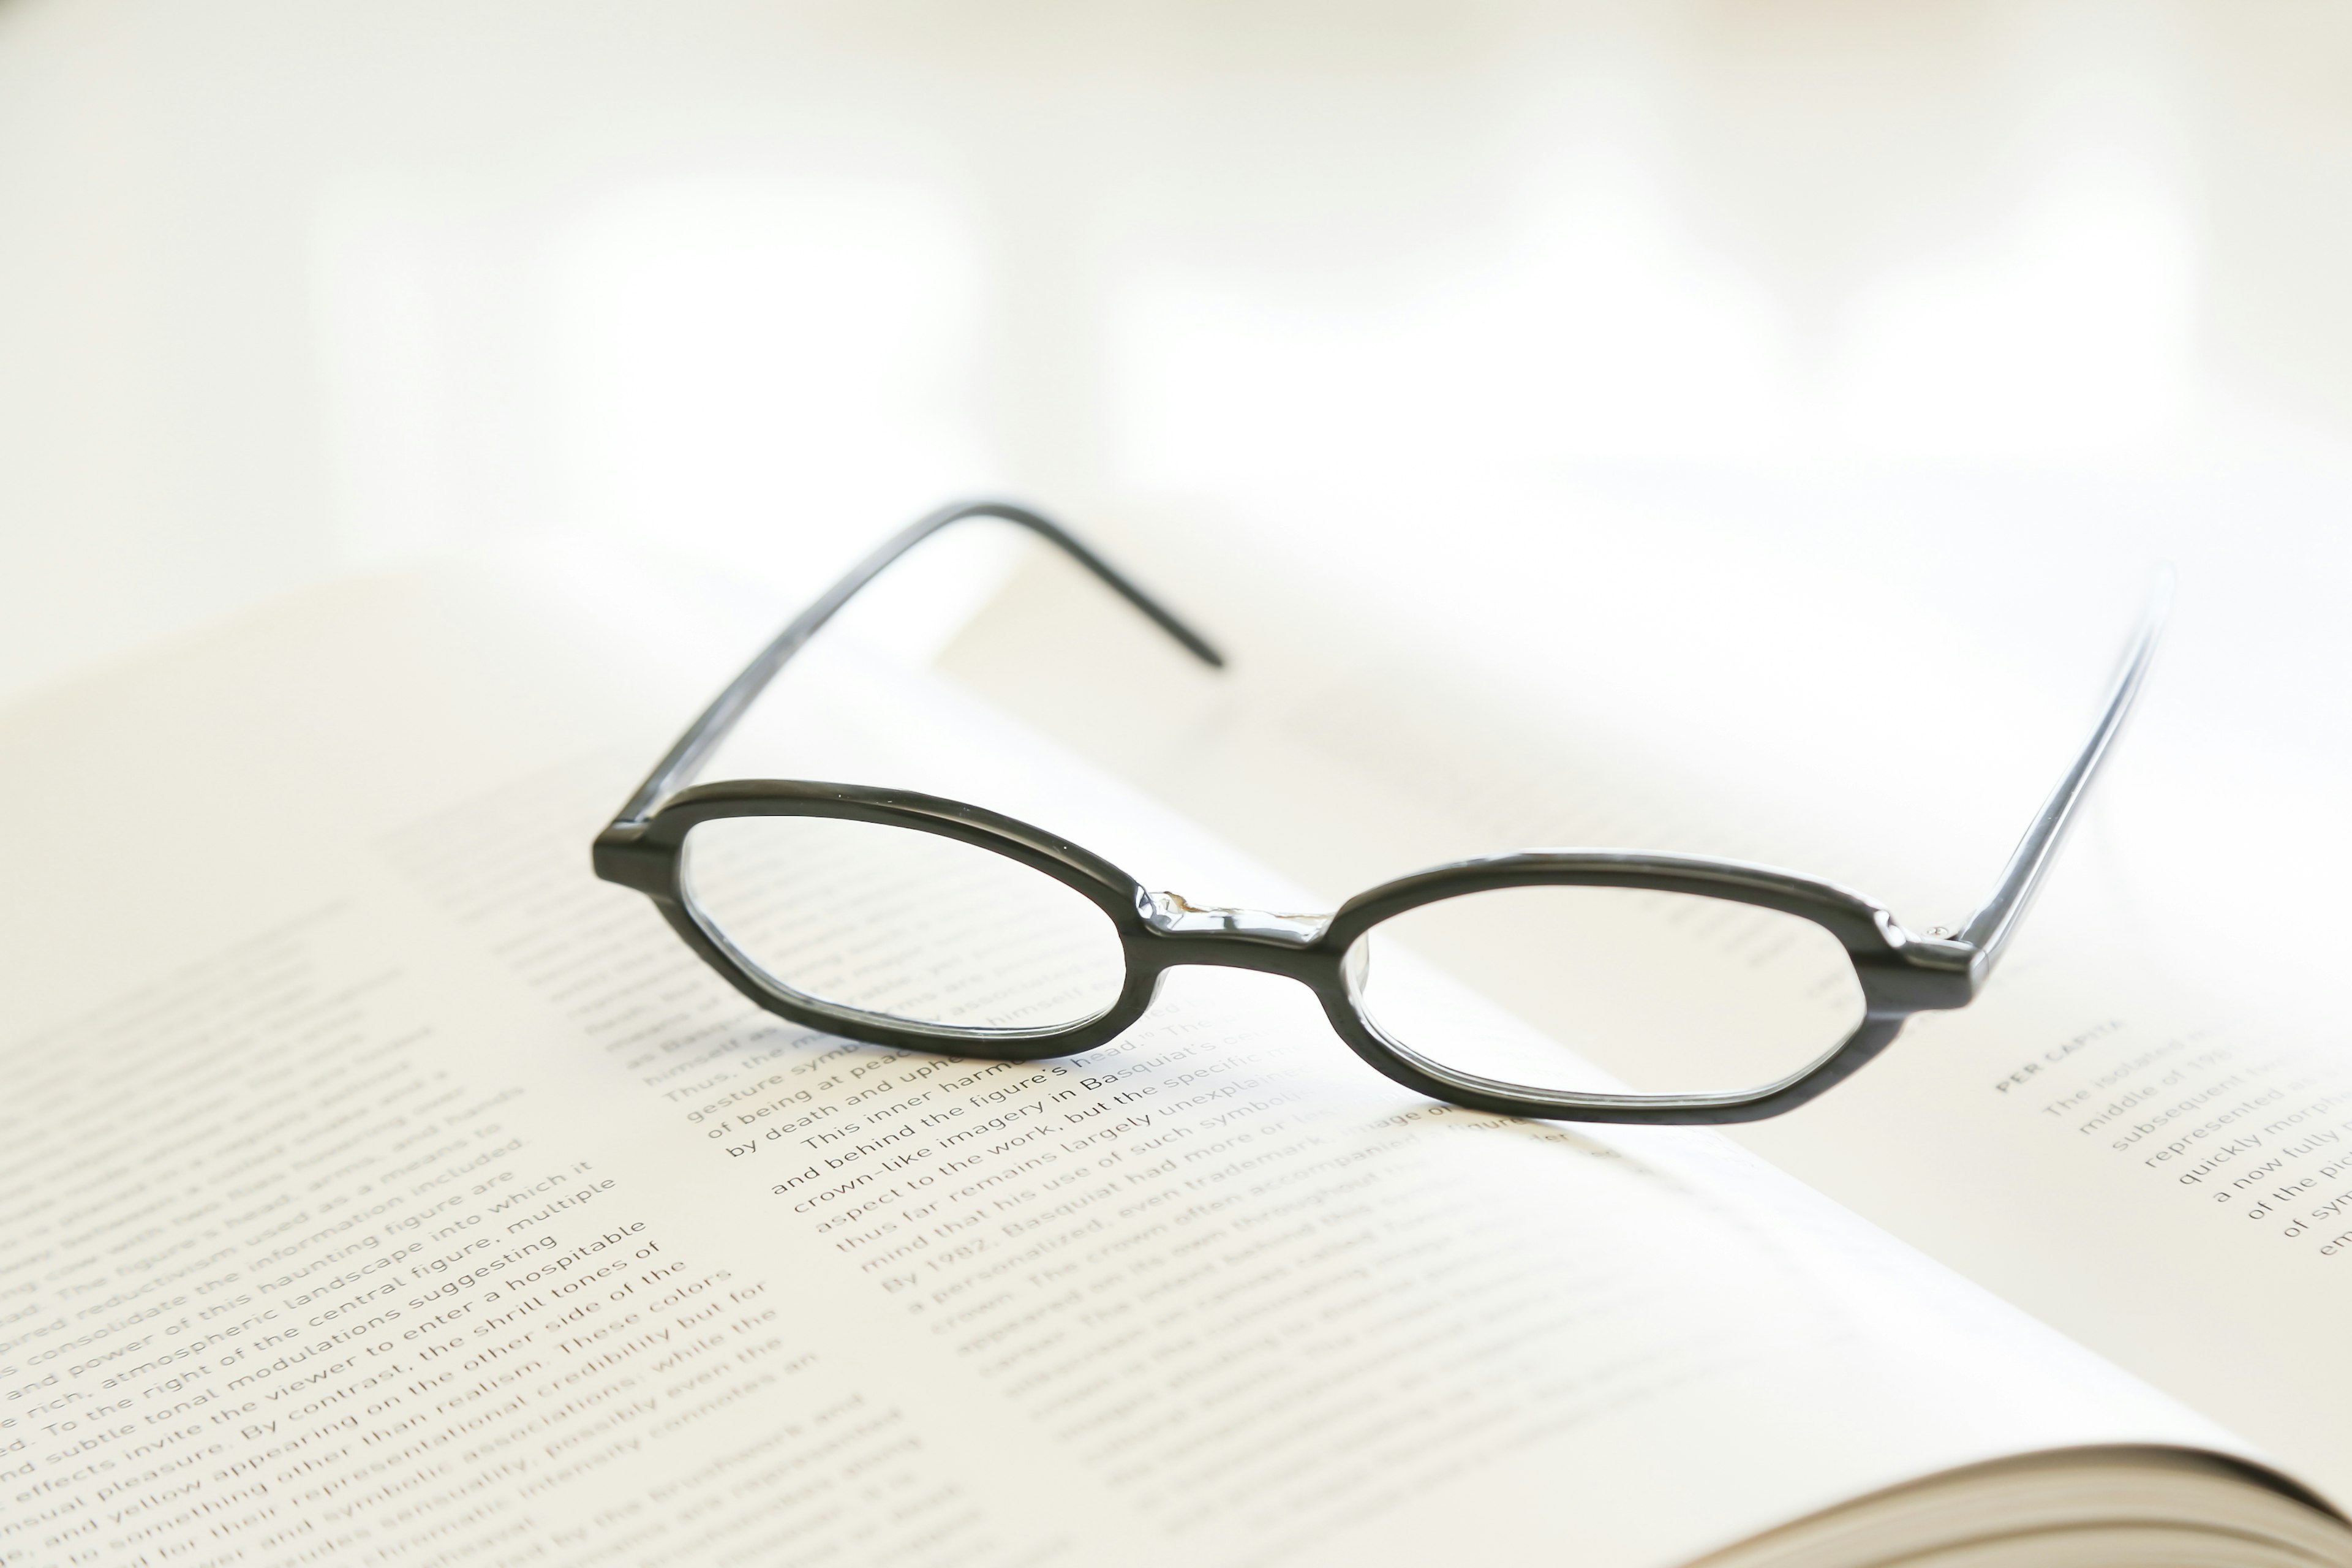
[[[1009,489],[1856,766],[2079,712],[2169,557],[2277,816],[2352,766],[2347,66],[2303,0],[0,0],[0,696],[499,538],[781,611]]]

